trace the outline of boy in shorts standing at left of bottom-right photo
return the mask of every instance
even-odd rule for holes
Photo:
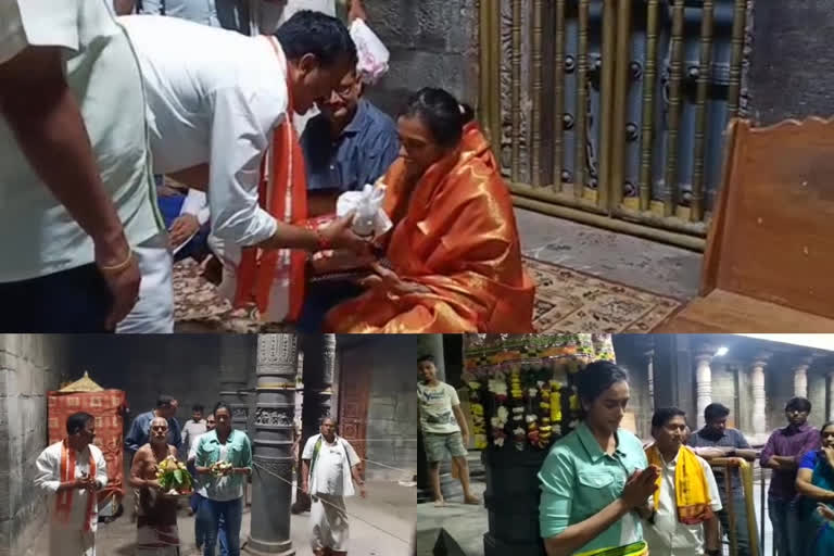
[[[431,355],[424,355],[417,359],[417,370],[420,377],[420,382],[417,383],[420,430],[426,446],[426,458],[429,462],[434,505],[445,505],[440,491],[440,462],[446,452],[452,455],[453,465],[456,465],[460,472],[464,503],[480,504],[481,501],[469,490],[469,465],[466,462],[469,429],[464,412],[460,410],[457,392],[451,386],[438,380],[438,368]]]

